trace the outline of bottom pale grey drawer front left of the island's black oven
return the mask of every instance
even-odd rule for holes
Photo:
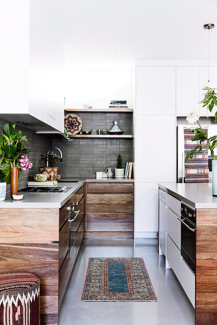
[[[170,263],[173,272],[177,276],[178,280],[181,280],[181,253],[172,242],[170,237],[166,236],[166,254],[167,260]]]

